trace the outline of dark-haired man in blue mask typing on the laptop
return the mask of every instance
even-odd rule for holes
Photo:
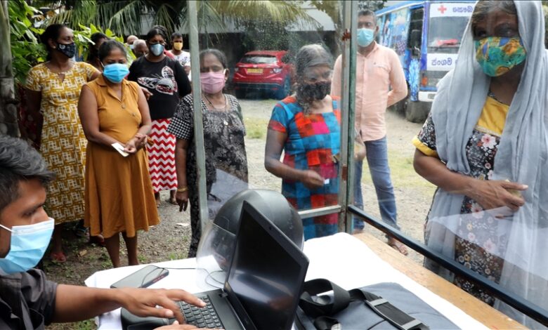
[[[0,329],[45,329],[52,322],[82,321],[119,307],[183,323],[174,301],[205,305],[178,289],[97,289],[48,281],[34,266],[53,232],[54,220],[43,206],[46,185],[54,176],[23,140],[0,136]],[[176,324],[163,329],[195,327]]]

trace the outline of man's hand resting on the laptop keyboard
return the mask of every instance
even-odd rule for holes
[[[135,289],[135,288],[122,288],[119,290],[122,294],[119,296],[120,305],[129,310],[134,315],[147,317],[175,317],[178,321],[178,326],[188,326],[184,324],[185,319],[181,314],[181,309],[174,301],[185,301],[191,305],[198,307],[204,307],[206,304],[199,298],[193,296],[184,290],[179,289]],[[156,306],[160,306],[157,308]],[[168,328],[171,329],[171,328]],[[187,328],[174,328],[174,329],[195,329],[191,327]]]

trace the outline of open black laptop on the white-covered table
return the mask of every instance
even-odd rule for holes
[[[189,324],[203,328],[291,329],[307,269],[308,258],[301,249],[244,202],[223,288],[195,293],[208,306],[180,302],[181,311]],[[202,314],[208,322],[196,321]],[[173,321],[136,317],[122,308],[124,330],[154,329]]]

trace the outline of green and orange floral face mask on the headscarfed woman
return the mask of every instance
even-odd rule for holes
[[[519,37],[487,37],[475,41],[476,60],[483,72],[498,77],[523,62],[527,54]]]

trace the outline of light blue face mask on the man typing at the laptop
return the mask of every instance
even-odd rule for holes
[[[10,251],[0,258],[0,275],[26,272],[38,265],[48,248],[55,223],[52,218],[34,225],[18,225],[11,229]]]

